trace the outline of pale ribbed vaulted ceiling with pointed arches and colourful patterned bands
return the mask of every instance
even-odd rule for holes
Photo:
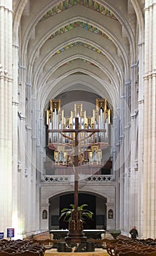
[[[63,104],[106,97],[117,105],[137,60],[143,4],[14,0],[14,41],[39,107],[60,97]]]

